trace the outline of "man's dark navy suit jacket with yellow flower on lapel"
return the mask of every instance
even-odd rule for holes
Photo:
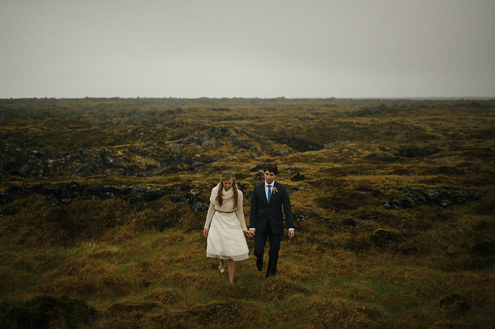
[[[281,234],[284,232],[284,214],[287,228],[293,229],[294,227],[291,201],[289,201],[287,188],[284,184],[275,181],[274,189],[276,189],[276,192],[272,191],[270,203],[268,203],[267,194],[264,192],[264,181],[256,184],[252,190],[249,227],[256,229],[256,232],[264,233],[269,220],[272,232]],[[283,213],[282,206],[284,206]]]

